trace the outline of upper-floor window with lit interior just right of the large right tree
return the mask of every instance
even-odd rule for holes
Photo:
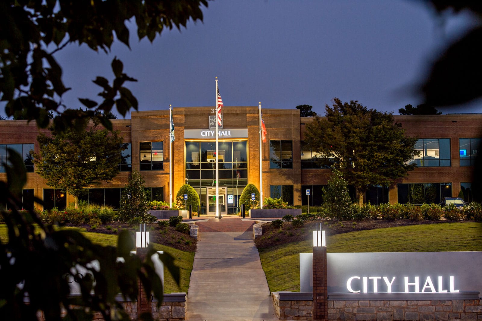
[[[420,167],[451,166],[450,138],[424,138],[415,143],[415,149],[420,153],[410,164]]]

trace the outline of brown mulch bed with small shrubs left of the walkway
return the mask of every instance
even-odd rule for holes
[[[139,226],[130,226],[126,223],[110,223],[103,224],[96,228],[92,228],[88,224],[66,224],[65,226],[75,226],[83,227],[87,232],[103,233],[103,234],[114,234],[119,235],[119,232],[123,229],[127,229],[132,232],[135,237],[135,232],[139,231]],[[196,242],[197,240],[191,238],[189,235],[178,232],[174,227],[160,228],[157,223],[146,224],[146,229],[149,232],[149,240],[152,243],[158,243],[172,247],[174,249],[186,251],[186,252],[196,252]]]

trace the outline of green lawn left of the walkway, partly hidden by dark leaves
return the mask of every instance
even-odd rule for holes
[[[64,228],[76,228],[80,230],[85,237],[87,237],[92,242],[97,244],[101,244],[105,246],[117,245],[117,235],[85,232],[85,231],[82,231],[84,229],[77,228],[77,227],[64,227]],[[5,243],[7,242],[7,240],[8,240],[7,226],[5,224],[0,224],[0,241]],[[169,271],[167,269],[164,270],[164,293],[172,293],[172,292],[187,293],[187,289],[189,288],[189,278],[191,276],[191,271],[192,271],[192,264],[194,262],[194,253],[180,251],[161,244],[156,244],[156,243],[151,243],[151,244],[154,246],[154,248],[157,251],[164,251],[165,253],[169,253],[172,256],[174,256],[175,258],[174,264],[181,268],[180,287],[177,286]]]

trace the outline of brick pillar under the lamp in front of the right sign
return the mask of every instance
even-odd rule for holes
[[[313,247],[313,320],[328,320],[326,247]]]

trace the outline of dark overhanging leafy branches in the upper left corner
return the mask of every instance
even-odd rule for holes
[[[112,61],[112,85],[103,77],[94,80],[102,87],[100,104],[80,99],[94,110],[66,113],[60,107],[65,107],[62,95],[69,88],[54,54],[73,43],[107,53],[115,39],[129,47],[126,21],[135,22],[139,40],[147,37],[152,42],[165,28],[186,27],[191,18],[202,20],[201,5],[207,7],[207,0],[0,1],[0,96],[7,102],[7,116],[23,115],[42,128],[49,125],[49,111],[59,114],[55,125],[64,128],[77,126],[78,120],[94,116],[95,110],[108,112],[114,105],[125,116],[130,108],[137,109],[137,100],[123,84],[136,80],[122,72],[120,60]],[[110,128],[110,121],[97,117]]]

